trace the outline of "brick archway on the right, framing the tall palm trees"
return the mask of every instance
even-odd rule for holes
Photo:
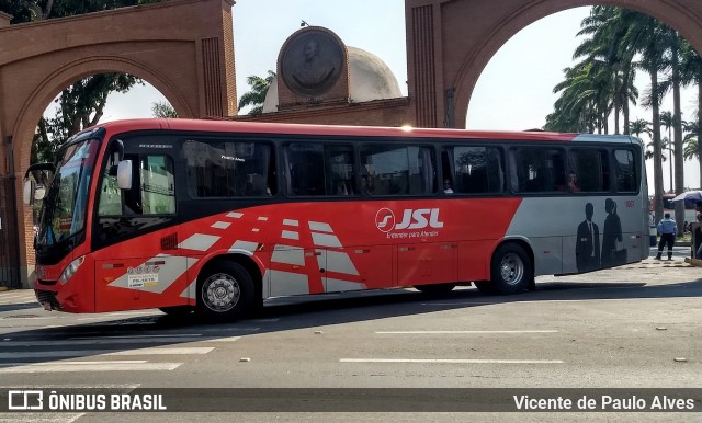
[[[550,14],[593,4],[654,16],[702,52],[699,0],[405,0],[408,90],[415,125],[464,128],[475,84],[509,38]]]

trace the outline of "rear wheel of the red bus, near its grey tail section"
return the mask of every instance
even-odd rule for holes
[[[490,263],[490,281],[476,281],[475,286],[486,294],[510,295],[530,288],[534,270],[529,254],[516,243],[497,249]]]

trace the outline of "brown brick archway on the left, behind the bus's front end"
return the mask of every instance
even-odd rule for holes
[[[0,286],[26,286],[34,267],[21,185],[50,102],[80,78],[127,72],[182,117],[236,114],[234,3],[171,0],[19,25],[0,13]]]

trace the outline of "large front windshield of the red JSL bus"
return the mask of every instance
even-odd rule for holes
[[[87,139],[57,151],[56,173],[42,207],[37,244],[60,242],[84,228],[99,144]]]

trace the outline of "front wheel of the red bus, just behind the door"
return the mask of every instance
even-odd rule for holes
[[[197,312],[211,320],[240,319],[254,304],[253,279],[238,263],[220,262],[201,276]]]

